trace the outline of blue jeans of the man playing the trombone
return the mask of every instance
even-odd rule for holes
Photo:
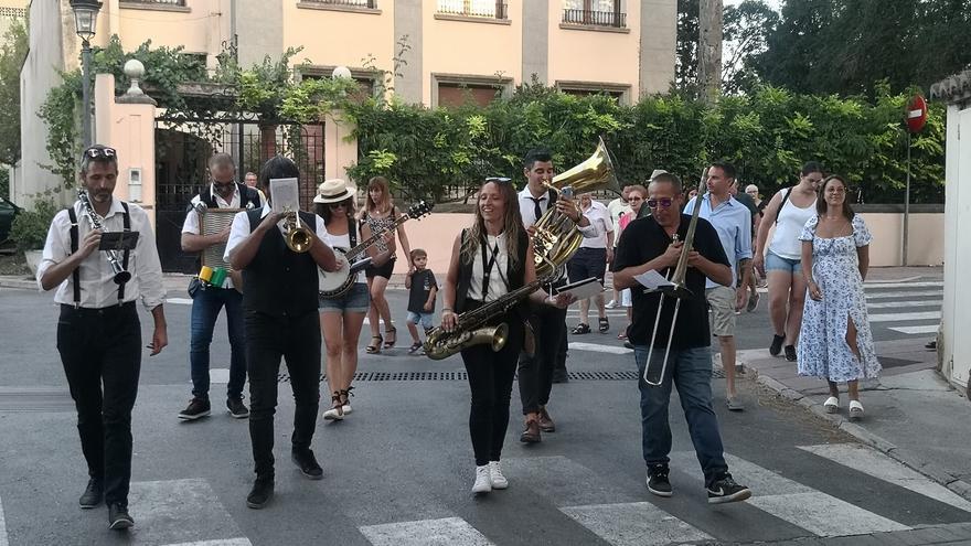
[[[687,429],[694,451],[702,471],[705,473],[705,486],[728,471],[722,452],[722,436],[718,433],[718,420],[712,408],[712,352],[709,347],[671,350],[668,356],[668,368],[661,385],[654,387],[644,383],[644,366],[648,360],[648,346],[634,345],[633,357],[637,361],[638,388],[641,392],[641,430],[644,462],[668,464],[671,452],[671,425],[668,422],[668,404],[671,402],[671,385],[677,387],[681,407],[687,419]],[[664,358],[664,349],[654,349],[651,355],[652,370],[660,370]],[[654,367],[658,366],[658,367]],[[652,376],[657,377],[657,375]]]

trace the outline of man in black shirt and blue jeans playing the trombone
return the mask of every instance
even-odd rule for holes
[[[645,203],[651,216],[627,226],[615,256],[615,286],[632,288],[633,315],[628,336],[641,375],[638,387],[648,490],[659,496],[672,495],[668,479],[671,452],[668,404],[674,383],[705,474],[708,503],[744,501],[751,496],[751,491],[735,483],[728,473],[718,421],[712,408],[711,332],[704,298],[705,279],[727,286],[732,282],[732,269],[718,234],[707,221],[694,218],[697,224],[692,237],[692,217],[680,213],[683,202],[677,176],[670,173],[655,176],[648,188]],[[671,280],[682,283],[691,295],[681,300],[675,312],[675,298],[647,293],[634,277],[650,270],[663,275],[675,267],[683,253],[687,253],[689,266],[684,278]],[[653,345],[654,351],[649,351],[649,345]],[[649,384],[648,375],[657,378],[657,384]]]

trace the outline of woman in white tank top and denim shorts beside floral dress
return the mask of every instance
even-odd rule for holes
[[[756,238],[753,266],[769,281],[769,318],[773,330],[769,354],[778,355],[785,342],[786,360],[790,362],[796,362],[796,341],[805,301],[799,235],[809,218],[815,215],[817,186],[822,180],[822,165],[815,161],[805,163],[799,183],[779,190],[766,205]],[[772,226],[776,231],[766,254],[766,242]]]

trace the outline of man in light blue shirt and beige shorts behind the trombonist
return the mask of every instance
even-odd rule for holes
[[[707,220],[718,232],[718,240],[732,264],[732,283],[708,279],[705,297],[712,309],[712,333],[718,336],[722,350],[726,404],[728,409],[741,411],[745,405],[735,390],[735,311],[744,309],[748,302],[746,287],[751,281],[751,213],[732,196],[730,188],[735,182],[735,167],[732,163],[716,161],[707,173],[708,191],[689,201],[684,214],[691,214],[695,206],[701,206],[698,216]]]

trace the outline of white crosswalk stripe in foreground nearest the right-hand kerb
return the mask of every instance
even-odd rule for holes
[[[837,462],[864,474],[890,482],[924,496],[971,512],[971,502],[884,453],[856,443],[799,446],[799,449]]]

